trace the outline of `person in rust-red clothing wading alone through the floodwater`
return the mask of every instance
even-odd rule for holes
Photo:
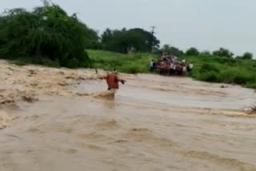
[[[118,82],[122,82],[123,85],[126,82],[125,80],[118,78],[118,71],[115,69],[112,71],[112,73],[106,74],[106,76],[103,78],[106,79],[108,90],[113,91],[114,93],[116,93],[116,91],[119,89]]]

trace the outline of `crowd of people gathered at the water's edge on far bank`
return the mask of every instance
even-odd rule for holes
[[[186,60],[179,61],[177,57],[169,54],[163,54],[158,61],[150,62],[150,71],[163,75],[181,75],[184,76],[193,69],[193,64]]]

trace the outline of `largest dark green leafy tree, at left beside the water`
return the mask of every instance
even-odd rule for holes
[[[85,48],[98,42],[94,30],[69,16],[58,5],[44,5],[29,12],[7,10],[0,18],[0,58],[30,58],[31,62],[54,61],[59,66],[86,67]]]

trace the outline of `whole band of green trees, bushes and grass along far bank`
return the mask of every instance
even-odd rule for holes
[[[160,48],[158,38],[140,28],[106,29],[98,35],[76,14],[68,15],[60,6],[42,2],[32,11],[6,10],[0,16],[0,58],[18,65],[117,68],[137,74],[149,73],[150,60],[166,52],[194,64],[191,78],[256,88],[256,61],[250,53],[235,57],[225,48],[214,52],[194,47],[183,51],[169,45]]]

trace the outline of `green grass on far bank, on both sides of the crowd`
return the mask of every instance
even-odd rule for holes
[[[94,66],[103,70],[117,68],[128,74],[149,73],[153,54],[117,54],[102,50],[87,50]],[[256,89],[256,61],[218,56],[186,56],[194,64],[189,77],[205,82],[223,82]]]

